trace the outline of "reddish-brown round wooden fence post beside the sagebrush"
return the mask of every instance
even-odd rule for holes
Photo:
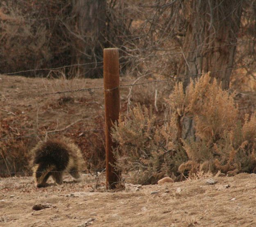
[[[105,97],[105,137],[106,137],[106,188],[116,188],[120,173],[115,171],[116,160],[113,149],[116,148],[111,139],[111,127],[118,121],[120,112],[119,92],[119,56],[118,48],[106,48],[104,56],[104,97]]]

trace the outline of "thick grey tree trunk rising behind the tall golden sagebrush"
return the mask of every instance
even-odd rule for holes
[[[237,42],[242,0],[192,0],[187,4],[190,14],[182,48],[184,54],[178,69],[179,76],[187,76],[183,81],[184,91],[190,78],[195,79],[203,72],[215,71],[220,72],[211,73],[211,76],[222,84],[222,89],[228,89],[231,75],[229,68],[233,66],[236,45],[226,44]],[[190,50],[198,51],[186,53]],[[193,125],[193,118],[184,119],[184,139],[196,139]]]

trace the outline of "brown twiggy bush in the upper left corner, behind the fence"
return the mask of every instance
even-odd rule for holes
[[[30,11],[31,18],[23,11]],[[40,68],[52,60],[49,33],[45,22],[36,20],[29,3],[18,7],[12,1],[0,4],[1,71],[10,72]]]

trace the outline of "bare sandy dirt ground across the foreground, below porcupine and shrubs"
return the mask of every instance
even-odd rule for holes
[[[0,178],[0,226],[256,226],[256,175],[106,191],[82,175],[36,189],[31,177]],[[104,177],[101,177],[104,180]],[[157,191],[156,194],[151,194]],[[32,210],[35,204],[50,208]],[[87,224],[86,224],[87,221]]]

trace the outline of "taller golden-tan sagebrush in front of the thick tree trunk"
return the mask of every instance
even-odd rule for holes
[[[178,83],[167,102],[176,112],[172,120],[177,126],[188,116],[195,121],[195,139],[181,139],[189,159],[179,166],[181,173],[189,171],[191,176],[197,171],[220,170],[234,175],[254,171],[255,115],[251,119],[246,115],[242,125],[234,94],[222,90],[209,73],[195,83],[191,80],[186,94]]]

